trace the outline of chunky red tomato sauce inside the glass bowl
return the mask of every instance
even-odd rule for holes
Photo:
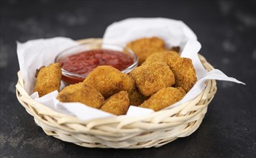
[[[65,57],[58,62],[60,62],[61,67],[68,72],[88,75],[99,65],[109,65],[118,70],[124,70],[132,65],[133,60],[131,56],[123,52],[114,50],[88,50]],[[73,80],[74,79],[75,78],[73,78]],[[82,79],[79,80],[81,81]]]

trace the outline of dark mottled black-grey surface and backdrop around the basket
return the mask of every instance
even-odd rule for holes
[[[1,1],[0,157],[255,157],[255,1]],[[16,41],[102,37],[128,17],[183,20],[201,55],[247,85],[218,81],[197,131],[160,148],[90,149],[47,136],[17,101]]]

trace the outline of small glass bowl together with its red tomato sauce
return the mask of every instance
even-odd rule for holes
[[[101,49],[101,45],[98,42],[86,43],[60,53],[55,62],[59,62],[62,67],[62,80],[69,84],[79,83],[99,65],[109,65],[123,73],[129,73],[137,67],[137,55],[132,50],[119,45],[114,45],[118,47],[116,50]]]

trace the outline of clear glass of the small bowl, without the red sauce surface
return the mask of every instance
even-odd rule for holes
[[[58,56],[55,57],[55,62],[60,62],[62,60],[65,60],[70,55],[77,55],[81,52],[87,52],[87,51],[91,51],[91,50],[108,50],[108,51],[115,51],[115,52],[119,52],[119,53],[125,53],[125,54],[129,55],[129,57],[132,58],[132,64],[129,65],[124,70],[120,70],[122,73],[129,73],[132,70],[134,70],[134,68],[137,67],[138,57],[132,50],[130,50],[129,48],[124,47],[122,45],[107,44],[107,43],[103,43],[103,42],[86,42],[86,43],[83,43],[83,44],[80,44],[80,45],[77,45],[74,47],[70,47],[70,48],[64,50],[63,52],[60,52],[60,54],[58,54]],[[62,65],[61,70],[62,70],[62,80],[68,84],[79,83],[79,82],[83,81],[87,76],[87,75],[81,75],[78,73],[73,73],[68,70],[65,70],[63,68],[63,65]]]

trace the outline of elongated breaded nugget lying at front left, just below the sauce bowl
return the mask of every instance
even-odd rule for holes
[[[91,85],[76,83],[63,88],[58,94],[58,100],[62,102],[80,102],[93,108],[100,108],[104,103],[104,97]]]

